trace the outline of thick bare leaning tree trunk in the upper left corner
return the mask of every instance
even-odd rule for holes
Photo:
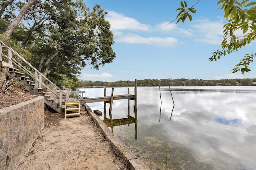
[[[9,24],[7,27],[6,31],[4,32],[4,35],[7,35],[7,37],[10,37],[14,29],[18,26],[20,23],[21,19],[26,15],[26,12],[30,6],[32,6],[36,0],[29,0],[24,6],[20,9],[20,13],[16,18]]]

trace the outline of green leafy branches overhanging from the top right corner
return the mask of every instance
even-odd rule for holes
[[[198,2],[199,0],[196,4]],[[192,21],[192,16],[189,12],[196,13],[196,10],[193,8],[196,4],[186,9],[186,1],[180,2],[181,7],[177,9],[180,10],[176,17],[178,19],[177,23],[179,21],[184,22],[187,17]],[[224,18],[228,23],[223,26],[224,39],[221,43],[222,50],[214,51],[212,57],[209,58],[211,62],[217,61],[221,56],[238,51],[238,49],[252,43],[256,39],[256,2],[250,0],[219,0],[217,5],[220,5],[220,9],[224,10]],[[243,37],[236,37],[234,34],[238,29],[242,30]],[[250,62],[253,62],[254,56],[254,52],[251,55],[246,54],[240,63],[232,69],[232,73],[237,71],[241,71],[242,74],[249,72],[248,65]]]

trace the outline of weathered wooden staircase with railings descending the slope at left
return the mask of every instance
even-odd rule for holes
[[[17,60],[26,63],[30,69],[28,70]],[[20,81],[24,84],[24,88],[34,95],[44,96],[44,104],[58,113],[62,113],[62,111],[65,110],[65,102],[69,97],[66,96],[66,92],[58,88],[41,72],[34,68],[34,66],[2,41],[0,41],[0,65],[8,68],[8,77],[10,79]],[[14,68],[14,65],[16,68]],[[30,70],[33,70],[34,73],[30,72]],[[48,92],[44,92],[42,86],[44,89],[47,89]]]

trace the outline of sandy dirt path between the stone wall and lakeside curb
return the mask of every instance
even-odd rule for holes
[[[44,129],[17,170],[122,170],[90,115],[69,117],[46,112]]]

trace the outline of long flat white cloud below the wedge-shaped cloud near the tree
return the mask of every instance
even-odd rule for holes
[[[178,39],[173,37],[141,37],[132,33],[128,33],[117,37],[116,42],[133,43],[133,44],[148,44],[161,47],[170,47],[178,43]]]

